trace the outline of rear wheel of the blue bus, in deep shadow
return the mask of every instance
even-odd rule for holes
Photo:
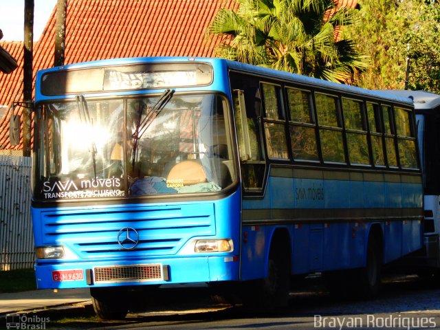
[[[377,236],[370,236],[366,248],[366,265],[355,274],[356,290],[362,298],[373,298],[380,292],[382,278],[382,245]],[[356,280],[358,278],[358,280]]]

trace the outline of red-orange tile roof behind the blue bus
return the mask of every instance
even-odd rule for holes
[[[234,0],[68,0],[65,63],[135,56],[214,56],[220,38],[208,38],[206,27],[220,8],[237,7]],[[39,42],[34,43],[34,73],[53,66],[55,9]],[[12,74],[0,73],[0,104],[12,104],[23,94],[23,45],[0,42],[0,46],[19,63]],[[9,116],[0,120],[0,149],[21,149],[22,145],[9,144]]]

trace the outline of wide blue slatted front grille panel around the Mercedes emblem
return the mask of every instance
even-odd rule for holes
[[[214,204],[119,206],[42,212],[43,245],[65,244],[83,260],[126,260],[175,255],[193,236],[216,233]],[[120,245],[121,230],[137,244]]]

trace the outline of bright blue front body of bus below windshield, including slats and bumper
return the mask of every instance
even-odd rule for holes
[[[216,201],[32,208],[35,245],[64,245],[62,261],[36,263],[38,287],[90,287],[85,281],[52,281],[52,272],[112,265],[168,266],[168,281],[148,284],[237,281],[239,279],[240,192]],[[139,233],[135,250],[124,250],[118,232]],[[194,239],[228,238],[232,252],[195,253]],[[102,285],[139,285],[142,281]],[[99,284],[94,284],[99,286]]]

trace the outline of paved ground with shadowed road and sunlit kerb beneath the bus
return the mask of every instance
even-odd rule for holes
[[[313,282],[312,282],[313,283]],[[319,287],[319,286],[318,286]],[[315,285],[310,285],[314,289]],[[304,290],[305,289],[305,290]],[[224,311],[210,311],[206,309],[206,302],[200,302],[197,295],[186,295],[186,299],[178,301],[179,296],[173,296],[173,304],[180,309],[170,309],[169,301],[166,308],[157,306],[157,311],[131,313],[126,320],[120,322],[105,323],[96,318],[90,318],[86,323],[79,324],[76,319],[83,316],[90,316],[93,313],[89,289],[62,289],[38,290],[19,292],[13,294],[0,294],[0,329],[10,325],[11,314],[25,315],[28,325],[47,323],[52,329],[91,329],[98,327],[102,329],[164,329],[173,330],[176,326],[180,329],[340,329],[329,324],[324,327],[320,321],[316,323],[316,315],[319,320],[326,322],[346,320],[360,320],[367,324],[369,318],[380,320],[403,320],[411,318],[414,320],[432,320],[432,329],[440,330],[440,300],[439,284],[437,281],[423,281],[417,276],[404,276],[393,278],[392,281],[385,281],[384,290],[379,298],[360,301],[340,301],[332,298],[327,292],[309,290],[307,288],[292,292],[292,299],[289,309],[280,315],[271,318],[243,318],[236,316],[233,309]],[[193,297],[192,297],[193,296]],[[204,309],[191,309],[193,305],[201,303]],[[9,316],[8,316],[9,314]],[[56,316],[62,314],[72,315],[72,320],[67,323],[57,323]],[[8,316],[8,318],[7,318]],[[54,316],[52,318],[52,316]],[[47,319],[45,319],[47,318]],[[46,321],[47,320],[47,321]],[[323,321],[322,321],[323,322]],[[402,321],[403,322],[403,321]],[[368,323],[368,325],[370,325]],[[429,326],[428,326],[429,327]],[[342,329],[350,329],[344,325]],[[361,327],[362,328],[362,327]],[[380,324],[371,329],[382,329]],[[404,327],[405,328],[405,327]],[[17,328],[25,329],[25,328]],[[30,328],[27,328],[30,329]],[[45,329],[45,328],[34,328]],[[362,328],[364,329],[364,328]],[[406,328],[407,329],[407,328]],[[420,327],[411,327],[420,329]]]

